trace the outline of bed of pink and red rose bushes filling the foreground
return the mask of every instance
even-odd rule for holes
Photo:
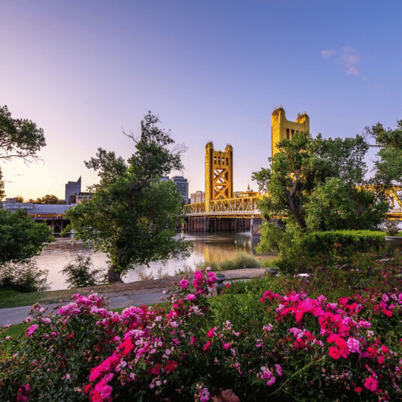
[[[402,398],[402,293],[335,302],[267,290],[246,315],[232,311],[235,326],[211,308],[215,281],[210,271],[184,278],[166,308],[118,314],[96,294],[74,295],[56,317],[34,306],[25,339],[2,341],[0,399],[206,402],[227,389],[240,401]]]

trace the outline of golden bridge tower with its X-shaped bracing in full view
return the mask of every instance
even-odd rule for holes
[[[233,198],[233,147],[215,151],[213,142],[205,145],[205,211],[210,211],[209,201]]]

